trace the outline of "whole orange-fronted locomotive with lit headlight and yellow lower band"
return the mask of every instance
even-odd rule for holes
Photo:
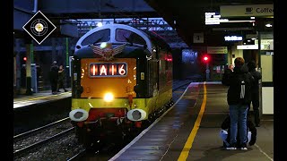
[[[86,146],[144,128],[172,104],[170,48],[148,32],[122,24],[90,30],[72,66],[69,117]]]

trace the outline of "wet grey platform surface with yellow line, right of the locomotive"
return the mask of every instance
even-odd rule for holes
[[[219,136],[229,113],[228,87],[191,82],[178,101],[109,161],[273,161],[274,117],[262,115],[257,142],[248,150],[226,150]]]

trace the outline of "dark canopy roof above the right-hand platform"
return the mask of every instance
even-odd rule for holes
[[[195,34],[204,33],[204,36],[212,35],[209,39],[213,39],[213,36],[222,35],[221,31],[236,31],[247,30],[248,32],[254,32],[253,24],[250,22],[238,22],[238,23],[221,23],[220,25],[205,25],[204,13],[219,13],[221,12],[222,5],[256,5],[256,4],[274,4],[273,0],[185,0],[185,1],[166,1],[166,0],[144,0],[154,10],[157,11],[168,21],[170,26],[178,31],[178,35],[183,38],[188,46],[195,45]],[[251,6],[252,7],[252,6]],[[248,6],[247,6],[248,8]],[[264,8],[265,9],[265,8]],[[265,12],[265,11],[263,11]],[[258,18],[265,19],[273,17],[259,16]],[[248,21],[250,16],[229,17],[233,21]],[[217,31],[216,33],[214,33]],[[217,41],[214,38],[212,41]],[[213,42],[208,42],[212,44]]]

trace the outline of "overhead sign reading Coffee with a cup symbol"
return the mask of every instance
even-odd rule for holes
[[[246,16],[273,16],[273,4],[253,5],[222,5],[220,7],[222,17],[246,17]]]

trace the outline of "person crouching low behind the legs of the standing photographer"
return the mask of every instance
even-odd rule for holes
[[[223,140],[223,147],[226,148],[230,144],[230,115],[228,115],[224,121],[222,122],[222,131],[220,131],[220,137]],[[253,146],[257,141],[257,128],[254,123],[248,117],[248,144],[249,146]],[[236,147],[239,148],[239,134],[237,135],[238,141],[236,143]]]

